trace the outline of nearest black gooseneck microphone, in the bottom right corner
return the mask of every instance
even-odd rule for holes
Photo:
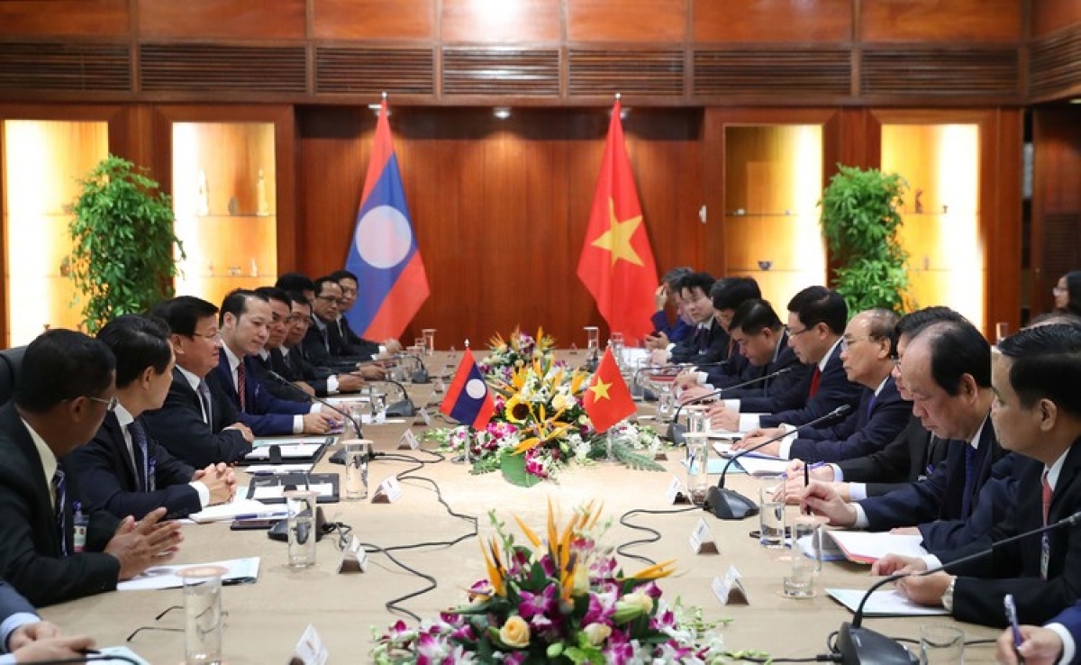
[[[844,622],[841,624],[841,629],[837,635],[837,651],[835,655],[838,655],[840,657],[840,662],[845,665],[854,665],[857,663],[883,663],[885,665],[903,663],[908,665],[912,663],[913,661],[908,650],[895,640],[890,639],[881,633],[859,627],[864,621],[864,606],[867,604],[867,600],[871,597],[871,594],[880,587],[890,584],[891,582],[896,582],[902,577],[907,577],[913,574],[922,577],[942,572],[959,563],[967,563],[969,561],[986,557],[1001,545],[1006,545],[1009,543],[1020,541],[1054,529],[1059,529],[1062,527],[1073,527],[1078,522],[1081,522],[1081,511],[1075,513],[1069,517],[1064,517],[1057,522],[1053,522],[1046,527],[1039,527],[1037,529],[1032,529],[1031,531],[1026,531],[1025,533],[1018,533],[1007,538],[1002,538],[1001,541],[991,543],[991,545],[985,549],[980,549],[979,551],[973,553],[966,557],[961,557],[960,559],[943,563],[942,566],[925,570],[921,573],[895,573],[893,575],[882,577],[872,584],[870,588],[867,589],[867,593],[864,594],[864,597],[859,599],[859,606],[856,607],[856,612],[852,617],[852,623],[850,624],[849,622]]]

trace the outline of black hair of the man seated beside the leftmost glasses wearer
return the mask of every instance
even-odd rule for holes
[[[117,387],[123,388],[146,370],[162,374],[173,358],[169,344],[169,327],[160,319],[138,314],[117,317],[97,331],[117,359]]]

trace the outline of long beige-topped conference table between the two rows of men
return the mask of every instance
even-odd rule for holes
[[[413,385],[409,391],[418,407],[437,403],[442,395],[433,384]],[[435,412],[431,405],[430,412]],[[640,409],[642,423],[651,423],[652,408]],[[392,418],[391,418],[392,420]],[[439,417],[432,426],[449,426]],[[660,538],[655,543],[635,546],[631,553],[659,561],[678,559],[677,573],[659,582],[669,602],[681,598],[684,604],[699,606],[709,620],[726,619],[723,629],[725,646],[731,650],[753,649],[774,657],[812,657],[826,652],[826,639],[851,612],[831,600],[827,587],[865,589],[875,582],[869,567],[850,562],[827,561],[815,580],[817,595],[810,599],[790,599],[782,595],[783,577],[790,568],[787,550],[770,550],[750,536],[758,529],[758,518],[722,521],[703,510],[675,513],[685,505],[672,505],[668,487],[673,476],[685,478],[679,449],[668,452],[662,464],[665,473],[630,470],[622,465],[599,463],[572,466],[555,482],[542,482],[520,488],[506,482],[499,473],[470,475],[468,465],[449,457],[416,466],[400,461],[397,455],[436,461],[425,450],[398,451],[399,439],[406,428],[419,435],[424,429],[414,418],[364,427],[365,438],[375,441],[375,450],[393,452],[395,457],[376,457],[370,465],[371,490],[366,501],[342,501],[322,504],[326,518],[349,524],[362,543],[379,547],[413,543],[438,543],[455,540],[471,532],[466,521],[452,517],[438,502],[432,486],[438,484],[442,497],[456,511],[475,516],[482,537],[494,533],[489,511],[513,527],[512,514],[535,530],[543,530],[550,501],[568,517],[573,508],[589,501],[603,502],[604,515],[613,519],[605,544],[617,547],[642,537],[618,523],[628,510],[646,509],[660,514],[639,514],[632,523],[655,529]],[[658,427],[658,430],[660,428]],[[423,445],[423,448],[429,448]],[[334,450],[333,448],[331,449]],[[316,465],[318,473],[339,473],[343,467],[331,464],[328,455]],[[375,486],[382,479],[402,475],[401,497],[387,504],[371,502]],[[240,474],[245,483],[248,474]],[[730,475],[728,484],[748,496],[757,496],[756,479]],[[788,508],[795,517],[797,508]],[[667,513],[666,513],[667,511]],[[696,554],[690,536],[699,519],[705,519],[718,553]],[[324,537],[318,544],[315,567],[293,570],[286,564],[286,545],[271,541],[263,531],[230,531],[228,522],[187,524],[184,544],[175,563],[201,563],[238,557],[258,556],[258,580],[252,584],[223,588],[223,608],[228,613],[223,646],[225,662],[288,663],[302,631],[311,624],[330,652],[332,663],[369,662],[372,629],[386,631],[398,619],[415,624],[409,617],[388,611],[387,601],[424,588],[427,583],[403,570],[383,554],[369,555],[366,572],[338,573],[342,553],[335,537]],[[480,542],[469,537],[453,546],[427,546],[393,553],[402,563],[415,568],[438,581],[433,590],[401,601],[401,607],[421,615],[436,617],[440,610],[465,602],[465,589],[484,577],[485,568]],[[643,563],[620,559],[624,570],[638,570]],[[747,604],[722,606],[711,589],[712,580],[723,577],[730,567],[738,570],[746,589]],[[42,615],[59,624],[68,634],[88,634],[99,646],[126,644],[147,661],[182,663],[184,635],[170,630],[141,630],[131,641],[129,636],[141,627],[183,628],[183,611],[171,611],[183,604],[179,589],[148,591],[112,591],[90,598],[44,608]],[[957,624],[950,617],[869,619],[865,627],[891,637],[918,640],[920,626],[929,623]],[[967,640],[996,638],[999,630],[972,624],[957,624]],[[970,646],[965,650],[970,663],[992,662],[990,646]]]

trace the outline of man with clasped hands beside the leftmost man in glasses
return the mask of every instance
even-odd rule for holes
[[[165,507],[168,517],[186,517],[229,501],[236,477],[228,465],[196,470],[159,445],[143,422],[143,412],[161,408],[173,383],[169,329],[146,317],[125,315],[109,321],[97,338],[117,358],[119,403],[94,439],[68,457],[79,476],[83,507],[142,519],[159,506]]]

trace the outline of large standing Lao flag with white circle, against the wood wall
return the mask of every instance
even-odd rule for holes
[[[400,336],[428,300],[428,276],[390,144],[386,99],[375,125],[372,161],[345,267],[360,281],[357,304],[346,319],[366,340]]]

